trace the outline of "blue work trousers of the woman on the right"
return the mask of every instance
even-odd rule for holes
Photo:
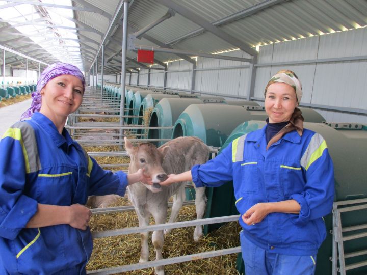
[[[259,248],[240,233],[246,275],[313,275],[316,255],[294,256]]]

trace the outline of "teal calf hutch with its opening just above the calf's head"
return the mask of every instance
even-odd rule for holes
[[[179,115],[191,104],[203,104],[198,98],[163,98],[150,115],[149,127],[173,126]],[[172,129],[149,129],[148,139],[170,139]],[[157,147],[165,142],[153,142]]]

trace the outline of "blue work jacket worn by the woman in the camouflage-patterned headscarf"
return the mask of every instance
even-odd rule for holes
[[[261,202],[294,199],[299,214],[270,213],[258,224],[239,222],[246,238],[269,252],[307,256],[326,237],[323,216],[331,212],[334,170],[323,137],[304,129],[285,134],[266,150],[263,129],[234,140],[214,159],[192,168],[196,187],[233,181],[236,207],[243,215]],[[220,203],[220,202],[217,202]]]

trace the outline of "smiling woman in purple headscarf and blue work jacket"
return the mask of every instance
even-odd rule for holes
[[[104,171],[64,128],[85,80],[67,63],[48,66],[22,120],[0,141],[0,274],[85,274],[92,252],[88,196],[124,196],[151,184],[142,170]]]

